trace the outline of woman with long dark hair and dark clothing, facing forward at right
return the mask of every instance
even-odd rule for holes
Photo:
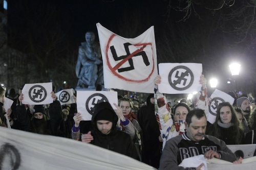
[[[232,105],[228,102],[219,104],[216,121],[206,129],[206,134],[215,136],[226,144],[243,144],[244,128]]]

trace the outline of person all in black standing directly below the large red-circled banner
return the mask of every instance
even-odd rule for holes
[[[161,158],[160,129],[155,114],[154,94],[147,97],[145,106],[138,111],[138,122],[142,129],[142,162],[155,168],[159,167]]]

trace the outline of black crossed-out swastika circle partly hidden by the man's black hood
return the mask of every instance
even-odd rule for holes
[[[86,110],[93,115],[93,110],[94,110],[94,106],[97,103],[101,103],[101,102],[109,102],[108,98],[106,98],[105,95],[101,94],[101,93],[94,93],[91,96],[89,96],[89,98],[86,101]]]

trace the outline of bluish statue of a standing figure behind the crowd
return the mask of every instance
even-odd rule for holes
[[[100,45],[94,42],[93,32],[86,33],[86,42],[79,46],[76,63],[77,88],[101,90],[103,85],[103,64]]]

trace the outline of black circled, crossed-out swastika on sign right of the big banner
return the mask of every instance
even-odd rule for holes
[[[176,71],[176,73],[175,73],[175,71]],[[174,76],[175,79],[172,78],[174,73],[175,73],[175,76]],[[180,76],[179,76],[179,74],[180,74]],[[187,83],[189,78],[190,78],[190,82]],[[170,70],[169,75],[168,75],[168,81],[169,81],[170,86],[172,86],[175,90],[179,90],[179,91],[186,90],[189,87],[191,87],[191,85],[193,84],[194,74],[186,66],[182,66],[182,65],[176,66],[172,70]],[[180,85],[180,87],[179,86],[177,87],[177,85]]]

